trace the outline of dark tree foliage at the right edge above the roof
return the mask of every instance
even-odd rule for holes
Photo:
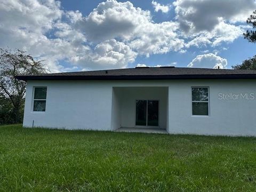
[[[244,33],[244,38],[248,39],[251,43],[256,43],[256,10],[253,14],[246,20],[247,24],[252,25],[252,30],[247,30]],[[256,70],[256,55],[253,58],[246,59],[242,64],[232,66],[233,69],[254,69]]]

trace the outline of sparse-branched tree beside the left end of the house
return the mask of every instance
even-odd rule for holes
[[[12,104],[12,123],[20,123],[20,111],[26,92],[26,82],[15,78],[17,75],[46,73],[42,61],[21,50],[0,49],[0,97]],[[1,100],[0,100],[1,101]],[[3,103],[0,107],[4,107]]]

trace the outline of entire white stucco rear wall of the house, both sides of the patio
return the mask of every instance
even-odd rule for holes
[[[32,111],[33,86],[47,86],[46,111],[43,113]],[[256,80],[28,81],[23,125],[31,127],[34,120],[34,126],[65,129],[129,127],[130,117],[135,122],[135,115],[124,115],[126,112],[122,113],[121,106],[122,100],[128,101],[131,95],[124,94],[121,99],[116,99],[120,93],[113,91],[113,87],[125,86],[169,87],[166,101],[169,110],[165,121],[169,133],[256,136]],[[208,117],[192,116],[191,86],[209,86]],[[219,93],[254,93],[255,99],[220,100]],[[127,104],[124,109],[130,110],[129,106]]]

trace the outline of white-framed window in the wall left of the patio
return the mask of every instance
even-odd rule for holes
[[[45,111],[47,87],[34,87],[33,111]]]

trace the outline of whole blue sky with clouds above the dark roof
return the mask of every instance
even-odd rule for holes
[[[255,0],[0,0],[0,47],[52,73],[175,66],[231,68],[256,54],[243,38]]]

